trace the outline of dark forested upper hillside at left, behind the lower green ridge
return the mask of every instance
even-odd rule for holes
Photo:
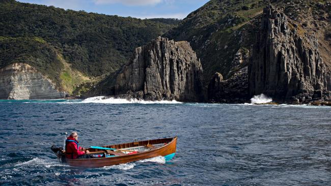
[[[164,21],[163,21],[164,22]],[[74,69],[91,76],[117,70],[135,47],[173,24],[54,7],[1,2],[0,36],[38,37],[63,54]]]

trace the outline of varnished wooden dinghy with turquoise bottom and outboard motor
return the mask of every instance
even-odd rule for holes
[[[171,160],[175,156],[177,137],[162,138],[146,141],[134,141],[131,143],[122,143],[115,145],[107,145],[98,148],[88,148],[89,154],[96,158],[91,159],[67,159],[65,154],[60,151],[55,151],[60,162],[66,162],[73,167],[96,168],[104,166],[112,166],[125,164],[129,162],[139,161],[143,159],[163,156],[166,161]],[[109,150],[113,149],[113,150]]]

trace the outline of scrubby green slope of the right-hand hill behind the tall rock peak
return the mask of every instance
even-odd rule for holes
[[[311,28],[313,30],[321,28],[324,23],[318,25],[315,22],[324,20],[325,25],[329,27],[325,31],[324,38],[325,40],[331,38],[329,34],[331,1],[329,0],[211,0],[190,13],[177,27],[163,36],[190,42],[201,59],[205,84],[215,72],[221,73],[225,79],[228,79],[236,70],[249,63],[253,44],[257,41],[260,16],[263,8],[269,3],[284,10],[291,20],[290,29],[295,29],[298,35],[305,35],[307,32],[305,24],[309,24],[314,17],[315,21],[311,24]],[[241,54],[241,64],[236,61],[238,53]]]

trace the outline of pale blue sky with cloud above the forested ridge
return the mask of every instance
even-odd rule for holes
[[[184,19],[209,0],[18,0],[22,3],[136,18]]]

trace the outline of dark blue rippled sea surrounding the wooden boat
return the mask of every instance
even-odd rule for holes
[[[50,150],[178,137],[156,157],[82,169]],[[123,100],[0,101],[0,185],[331,185],[331,107]]]

